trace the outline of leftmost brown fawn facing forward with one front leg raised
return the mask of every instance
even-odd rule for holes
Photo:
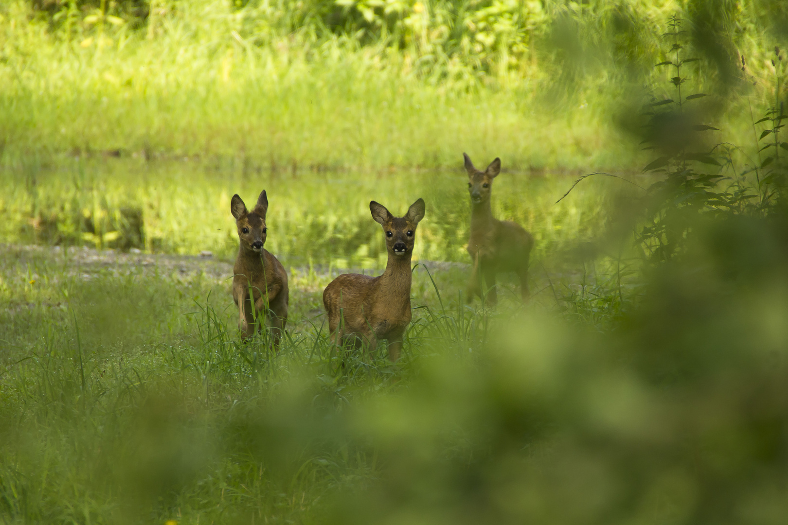
[[[236,218],[240,247],[236,265],[232,268],[232,298],[238,307],[238,326],[243,339],[251,337],[256,330],[262,331],[265,313],[271,325],[273,348],[279,346],[284,324],[288,320],[288,274],[284,267],[268,250],[266,243],[266,211],[268,197],[263,190],[255,209],[247,210],[241,198],[235,194],[230,202],[230,211]]]

